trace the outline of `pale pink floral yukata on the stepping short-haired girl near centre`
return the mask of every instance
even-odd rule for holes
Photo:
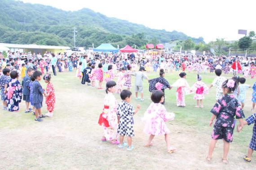
[[[165,122],[173,120],[174,113],[168,113],[160,103],[151,103],[144,114],[146,122],[144,132],[148,135],[165,135],[170,133]]]

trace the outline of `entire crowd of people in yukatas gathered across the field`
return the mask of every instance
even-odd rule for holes
[[[165,122],[175,118],[174,113],[168,113],[164,107],[166,88],[176,89],[177,106],[185,107],[185,94],[195,93],[196,108],[203,108],[204,95],[211,87],[216,87],[216,104],[212,108],[210,126],[216,119],[212,131],[212,140],[209,146],[207,160],[211,161],[212,152],[218,139],[224,141],[223,162],[227,161],[230,143],[233,140],[235,126],[234,118],[239,120],[237,131],[243,126],[256,121],[256,113],[243,121],[243,107],[245,105],[246,91],[252,87],[252,111],[256,104],[256,82],[252,85],[246,84],[246,78],[255,78],[255,58],[226,57],[221,56],[191,56],[181,54],[111,54],[111,53],[67,53],[53,54],[46,52],[43,56],[31,53],[9,52],[4,58],[0,53],[0,84],[3,109],[18,111],[19,103],[26,103],[25,113],[33,112],[35,121],[41,122],[45,115],[52,117],[55,104],[55,94],[51,83],[50,72],[54,76],[58,72],[75,70],[75,76],[79,77],[81,84],[102,89],[103,81],[106,82],[106,96],[104,98],[104,109],[100,114],[98,123],[103,127],[104,135],[102,141],[111,141],[119,148],[132,150],[132,137],[134,136],[132,116],[138,112],[140,105],[134,109],[130,105],[132,100],[132,76],[135,77],[134,88],[137,100],[144,101],[143,79],[149,83],[152,103],[146,110],[143,120],[145,121],[144,132],[149,136],[145,147],[151,147],[155,135],[165,135],[165,141],[169,153],[176,151],[169,140],[169,130]],[[145,72],[158,72],[159,77],[149,79]],[[173,84],[168,83],[165,74],[176,71],[180,78]],[[186,73],[197,73],[196,82],[192,87],[186,81]],[[216,78],[210,87],[202,81],[202,74],[215,72]],[[227,79],[222,72],[234,74],[233,78]],[[47,83],[44,90],[39,81],[42,78]],[[116,78],[116,82],[114,81]],[[20,83],[20,81],[22,83]],[[97,83],[98,82],[98,83]],[[124,90],[124,87],[126,89]],[[113,93],[119,93],[122,99],[117,103]],[[138,94],[140,93],[140,97]],[[47,110],[42,114],[41,108],[43,96],[46,97]],[[29,106],[32,106],[30,108]],[[256,126],[255,126],[256,128]],[[248,154],[244,157],[247,162],[251,161],[252,152],[256,150],[256,129],[254,128]],[[119,139],[118,139],[119,134]],[[128,137],[128,143],[124,142],[124,136]]]

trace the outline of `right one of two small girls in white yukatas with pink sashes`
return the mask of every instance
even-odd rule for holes
[[[201,75],[197,74],[197,82],[191,87],[195,92],[194,99],[196,100],[196,108],[199,108],[199,102],[201,104],[200,108],[203,108],[204,94],[208,94],[208,87],[201,80]]]

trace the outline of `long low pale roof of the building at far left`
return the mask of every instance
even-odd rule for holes
[[[29,49],[70,49],[66,46],[51,46],[51,45],[36,45],[36,44],[5,44],[0,43],[0,46],[8,48],[29,48]]]

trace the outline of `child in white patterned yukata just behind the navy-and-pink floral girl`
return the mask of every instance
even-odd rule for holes
[[[223,90],[222,90],[222,83],[226,80],[225,77],[221,76],[221,69],[216,69],[215,74],[216,78],[214,78],[212,84],[210,85],[209,89],[214,86],[216,87],[216,101],[219,100],[223,96]]]

